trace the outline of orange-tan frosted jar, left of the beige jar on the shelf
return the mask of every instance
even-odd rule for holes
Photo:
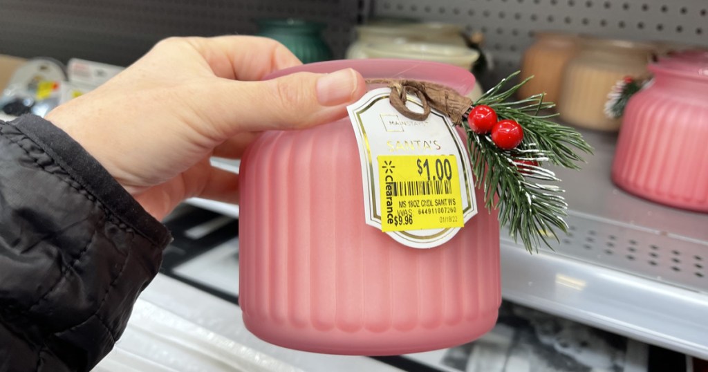
[[[578,35],[536,33],[536,42],[524,52],[520,74],[521,80],[531,76],[533,79],[518,90],[519,96],[545,93],[544,101],[558,102],[563,71],[578,52],[580,43]]]

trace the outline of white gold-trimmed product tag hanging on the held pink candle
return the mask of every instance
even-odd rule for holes
[[[450,118],[431,109],[426,120],[411,120],[391,106],[390,94],[375,89],[347,107],[365,220],[409,247],[438,247],[477,213],[469,155]],[[423,112],[416,96],[407,106]]]

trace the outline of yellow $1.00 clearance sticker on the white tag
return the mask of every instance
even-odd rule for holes
[[[455,155],[379,155],[381,230],[463,227]]]

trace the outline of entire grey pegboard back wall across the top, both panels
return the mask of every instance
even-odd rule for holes
[[[708,46],[705,0],[0,0],[0,54],[126,65],[171,35],[256,33],[257,18],[327,24],[343,57],[353,26],[369,17],[457,23],[485,35],[496,69],[518,69],[538,30]]]

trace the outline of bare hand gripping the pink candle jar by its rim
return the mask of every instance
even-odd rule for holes
[[[353,69],[258,81],[298,64],[270,39],[169,38],[47,120],[157,219],[193,196],[236,203],[238,176],[211,167],[212,155],[238,158],[262,130],[341,118],[364,94],[364,79]]]

